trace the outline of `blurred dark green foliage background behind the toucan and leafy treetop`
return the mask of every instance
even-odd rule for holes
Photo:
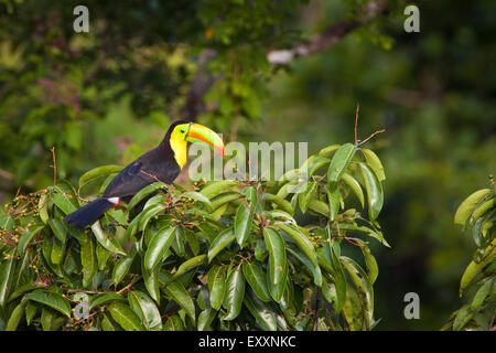
[[[386,129],[367,145],[385,164],[392,246],[373,248],[377,330],[436,330],[475,248],[454,212],[496,170],[496,2],[417,1],[420,32],[407,33],[410,3],[1,0],[0,201],[53,182],[53,146],[72,181],[132,161],[179,118],[313,153],[353,141],[359,104],[362,139]],[[88,33],[73,29],[78,4]],[[353,30],[331,47],[268,62],[336,23]],[[403,317],[410,291],[420,320]]]

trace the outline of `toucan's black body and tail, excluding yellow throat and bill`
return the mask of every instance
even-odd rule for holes
[[[101,217],[107,210],[117,206],[120,202],[129,202],[144,186],[158,180],[168,184],[172,183],[181,172],[181,167],[174,158],[170,138],[174,127],[180,124],[186,122],[172,124],[158,147],[122,169],[108,184],[101,197],[71,213],[64,222],[74,227],[84,228]],[[138,207],[143,205],[144,203]]]

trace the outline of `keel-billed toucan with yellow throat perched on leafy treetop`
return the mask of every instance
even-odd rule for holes
[[[84,228],[121,202],[129,202],[144,186],[158,180],[170,184],[186,162],[187,142],[204,142],[224,157],[224,143],[211,129],[194,122],[176,121],[162,142],[122,169],[108,184],[101,197],[71,213],[64,222]]]

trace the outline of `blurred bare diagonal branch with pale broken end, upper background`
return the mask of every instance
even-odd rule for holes
[[[268,53],[267,60],[271,64],[288,64],[298,56],[309,56],[325,51],[349,32],[370,23],[376,17],[385,13],[387,3],[387,0],[370,1],[358,11],[356,19],[334,23],[323,32],[313,35],[309,41],[299,43],[292,49],[271,51]]]

